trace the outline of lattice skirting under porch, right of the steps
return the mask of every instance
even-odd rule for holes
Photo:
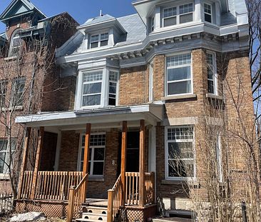
[[[146,222],[148,218],[156,215],[157,205],[153,204],[138,208],[137,206],[126,206],[128,222],[140,221]]]

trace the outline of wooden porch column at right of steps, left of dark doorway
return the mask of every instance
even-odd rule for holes
[[[121,133],[121,183],[123,184],[122,206],[125,205],[126,193],[126,149],[127,149],[127,121],[123,121],[123,131]]]

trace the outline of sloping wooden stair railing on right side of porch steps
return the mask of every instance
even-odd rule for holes
[[[122,192],[123,184],[121,182],[121,175],[118,177],[116,183],[111,190],[108,190],[108,216],[107,221],[113,221],[116,218],[122,206]]]

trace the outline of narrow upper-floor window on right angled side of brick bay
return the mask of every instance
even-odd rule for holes
[[[207,52],[207,64],[208,64],[208,93],[218,94],[217,84],[218,78],[216,74],[216,61],[215,54],[213,52]]]

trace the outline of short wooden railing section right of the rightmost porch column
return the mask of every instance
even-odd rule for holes
[[[145,204],[155,203],[155,173],[145,173]]]

